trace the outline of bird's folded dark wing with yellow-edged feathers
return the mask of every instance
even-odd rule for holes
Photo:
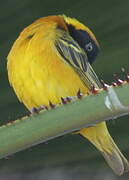
[[[67,32],[63,32],[62,36],[55,40],[55,46],[63,61],[71,65],[89,90],[93,86],[96,88],[102,87],[97,75],[88,62],[85,51]]]

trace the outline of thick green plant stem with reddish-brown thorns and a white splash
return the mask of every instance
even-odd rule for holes
[[[129,113],[129,84],[0,127],[0,158],[57,136]],[[76,99],[76,98],[75,98]]]

